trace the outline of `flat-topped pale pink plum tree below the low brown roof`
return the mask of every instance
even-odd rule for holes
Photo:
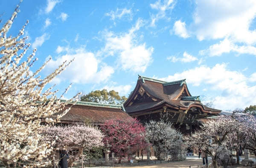
[[[72,146],[83,147],[84,150],[90,151],[93,148],[100,148],[104,146],[102,140],[104,135],[102,132],[93,126],[71,125],[71,126],[52,126],[43,129],[43,139],[47,141],[54,141],[53,147],[61,149],[70,148]],[[69,165],[75,160],[79,159],[79,154],[70,150]],[[84,158],[88,156],[84,155]]]

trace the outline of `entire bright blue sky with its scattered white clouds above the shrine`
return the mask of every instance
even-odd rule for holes
[[[3,23],[18,0],[0,1]],[[186,78],[192,95],[222,110],[256,104],[255,0],[24,0],[9,35],[25,29],[45,76],[75,61],[51,84],[126,95],[138,74]]]

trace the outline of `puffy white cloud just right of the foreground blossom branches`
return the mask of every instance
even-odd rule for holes
[[[96,59],[93,53],[87,52],[82,48],[70,50],[75,51],[75,53],[67,53],[66,55],[52,59],[45,67],[44,72],[49,74],[64,61],[70,61],[75,58],[70,66],[53,79],[52,82],[59,83],[61,81],[70,81],[79,84],[99,83],[108,81],[108,78],[114,73],[113,67]]]

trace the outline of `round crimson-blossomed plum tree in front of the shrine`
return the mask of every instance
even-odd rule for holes
[[[101,129],[106,135],[105,145],[111,145],[110,149],[119,157],[119,162],[122,157],[148,146],[145,141],[145,128],[136,119],[108,120]]]

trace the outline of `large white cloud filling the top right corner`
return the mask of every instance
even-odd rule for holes
[[[219,39],[226,36],[252,44],[256,31],[250,24],[256,17],[255,0],[196,0],[194,24],[199,40]]]

